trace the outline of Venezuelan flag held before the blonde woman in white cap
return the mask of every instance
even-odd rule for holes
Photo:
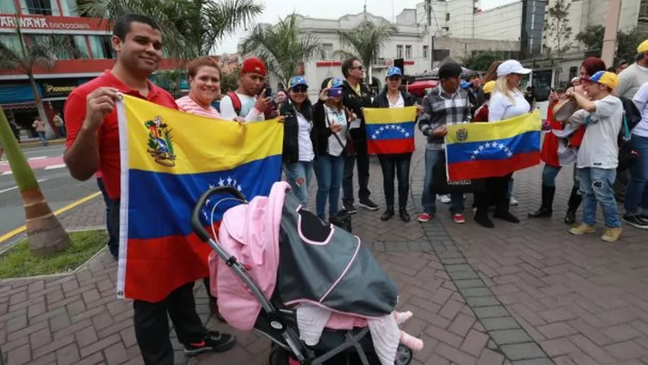
[[[504,176],[540,164],[540,111],[490,123],[448,126],[448,181]]]

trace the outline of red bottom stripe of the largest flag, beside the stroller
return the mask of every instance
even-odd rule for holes
[[[218,234],[219,223],[216,223]],[[211,227],[205,227],[211,234]],[[196,236],[128,239],[124,294],[149,303],[164,300],[184,284],[209,277],[211,247]]]

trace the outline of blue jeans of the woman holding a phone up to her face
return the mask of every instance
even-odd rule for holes
[[[344,176],[343,156],[331,156],[325,154],[317,156],[314,161],[315,177],[317,178],[317,195],[315,197],[315,209],[317,217],[324,220],[326,200],[329,200],[329,216],[338,212],[340,199],[340,187]]]

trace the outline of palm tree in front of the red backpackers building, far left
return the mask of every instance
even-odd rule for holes
[[[35,68],[51,69],[57,62],[57,55],[67,53],[68,55],[76,51],[70,47],[68,41],[64,37],[54,37],[52,35],[41,35],[38,38],[32,37],[30,44],[26,44],[26,39],[23,37],[23,32],[20,28],[20,21],[15,21],[15,35],[17,36],[18,44],[3,43],[0,41],[0,70],[15,70],[25,75],[32,86],[34,93],[34,100],[36,102],[36,109],[39,117],[44,120],[48,133],[53,133],[52,127],[47,122],[47,114],[43,106],[43,101],[38,93],[36,81],[34,79]]]

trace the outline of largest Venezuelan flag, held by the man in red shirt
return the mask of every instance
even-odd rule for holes
[[[122,158],[117,296],[157,302],[209,276],[211,250],[191,230],[200,195],[236,187],[247,200],[281,177],[283,124],[243,124],[182,113],[123,95],[117,103]],[[231,198],[231,196],[229,196]],[[205,226],[236,202],[203,209]],[[211,229],[210,229],[211,230]]]

